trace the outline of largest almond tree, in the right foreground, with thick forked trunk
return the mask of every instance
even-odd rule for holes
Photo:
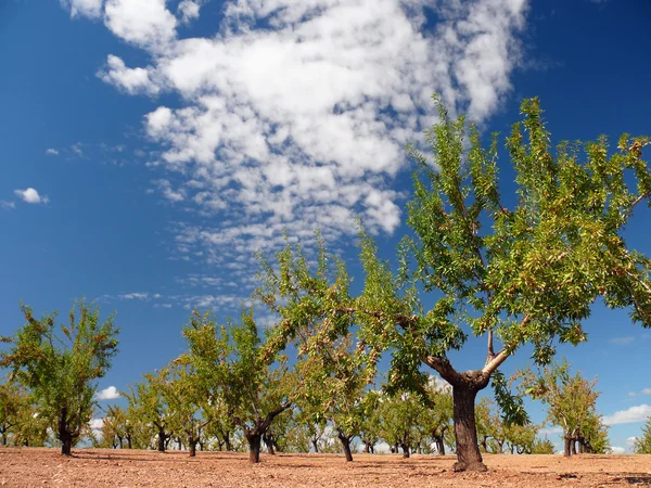
[[[451,119],[441,104],[438,111],[438,123],[426,132],[432,157],[410,150],[419,171],[399,272],[362,235],[366,281],[358,297],[323,295],[309,277],[278,278],[282,286],[302,286],[305,316],[311,310],[305,297],[322,296],[329,320],[355,323],[365,346],[390,349],[394,386],[422,384],[422,367],[446,380],[452,386],[455,470],[484,471],[475,398],[494,378],[506,419],[525,419],[522,402],[496,375],[521,346],[532,345],[534,360],[545,364],[557,343],[584,342],[582,322],[600,297],[651,325],[651,261],[624,240],[634,210],[651,194],[642,159],[649,139],[625,134],[614,152],[605,138],[554,150],[538,100],[525,100],[523,121],[507,139],[514,183],[502,198],[497,137],[484,149],[463,117]],[[293,320],[299,318],[284,316],[279,326],[291,335]],[[448,352],[470,336],[484,338],[485,354],[475,369],[460,371]],[[375,349],[370,354],[374,361]]]

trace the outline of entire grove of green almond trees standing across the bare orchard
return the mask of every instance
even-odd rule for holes
[[[604,452],[595,382],[552,360],[558,343],[586,341],[582,322],[597,299],[651,326],[651,260],[623,237],[651,194],[649,139],[623,136],[610,155],[604,138],[553,149],[538,100],[525,100],[506,143],[515,191],[505,196],[497,138],[485,149],[472,124],[437,107],[431,157],[409,150],[419,169],[395,269],[363,222],[357,295],[320,236],[316,254],[288,239],[275,259],[260,258],[254,294],[275,324],[259,328],[253,308],[222,325],[195,310],[183,328],[187,352],[131,386],[126,408],[104,412],[97,445],[164,452],[176,441],[191,455],[197,446],[246,449],[257,463],[264,446],[270,454],[342,450],[353,461],[355,439],[367,451],[383,440],[405,457],[452,448],[456,471],[484,471],[482,452],[552,450],[524,410],[521,395],[529,395],[548,407],[547,423],[563,428],[565,454]],[[22,310],[27,323],[0,355],[9,371],[2,441],[38,445],[52,432],[71,454],[93,436],[97,380],[116,354],[117,329],[82,300],[59,329],[55,314],[37,320]],[[448,354],[470,336],[486,348],[474,370],[460,371]],[[513,395],[498,369],[525,345],[540,374],[522,372]],[[477,402],[489,384],[495,400]]]

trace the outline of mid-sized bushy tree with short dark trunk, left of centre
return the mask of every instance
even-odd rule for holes
[[[248,442],[248,459],[260,461],[260,442],[273,420],[292,402],[285,358],[267,355],[253,311],[242,312],[240,324],[218,328],[209,312],[194,311],[183,329],[188,361],[209,398],[224,401],[233,423]]]

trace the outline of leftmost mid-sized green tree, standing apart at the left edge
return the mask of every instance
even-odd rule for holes
[[[71,455],[95,403],[95,380],[104,376],[117,352],[118,330],[113,316],[100,321],[100,310],[79,300],[69,322],[55,326],[56,313],[38,320],[21,306],[27,323],[12,337],[12,347],[0,354],[0,365],[33,393],[40,415],[56,425],[61,453]]]

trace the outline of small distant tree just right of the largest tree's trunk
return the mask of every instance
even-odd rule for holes
[[[526,370],[518,376],[524,393],[548,406],[547,421],[563,429],[565,455],[607,451],[608,431],[596,412],[596,380],[584,380],[579,372],[571,376],[567,361],[545,367],[539,375]]]

